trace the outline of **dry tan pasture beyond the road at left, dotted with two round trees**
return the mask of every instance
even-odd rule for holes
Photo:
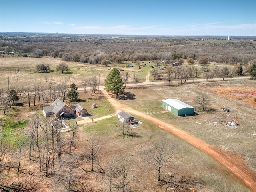
[[[79,84],[80,81],[88,76],[98,76],[101,73],[101,78],[105,78],[108,73],[108,68],[101,65],[82,64],[79,62],[65,62],[60,58],[0,58],[0,88],[8,87],[8,78],[10,86],[34,86],[36,84],[47,84],[48,82],[66,82],[71,84],[73,82]],[[36,72],[38,64],[48,64],[54,72],[39,73]],[[56,66],[60,63],[68,64],[70,68],[69,73],[62,74],[56,72]],[[80,68],[78,70],[77,68]],[[85,70],[86,69],[86,70]],[[81,72],[80,72],[81,71]]]

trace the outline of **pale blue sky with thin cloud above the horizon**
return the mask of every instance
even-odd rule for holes
[[[256,0],[0,0],[0,32],[256,35]]]

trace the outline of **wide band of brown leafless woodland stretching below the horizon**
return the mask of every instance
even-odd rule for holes
[[[199,60],[207,57],[209,62],[221,64],[254,64],[256,44],[252,40],[223,41],[222,43],[190,42],[197,38],[1,38],[0,50],[16,56],[59,57],[64,61],[75,61],[90,64],[139,60]],[[36,44],[31,44],[36,42]],[[169,42],[169,44],[165,44]],[[187,42],[180,44],[172,42]],[[4,56],[4,55],[2,55]]]

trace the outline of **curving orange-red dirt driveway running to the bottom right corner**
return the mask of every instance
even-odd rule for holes
[[[122,110],[146,118],[156,124],[156,126],[158,126],[159,128],[167,130],[172,134],[178,136],[184,141],[190,143],[192,146],[200,149],[202,152],[210,155],[217,162],[219,162],[232,173],[234,173],[238,179],[242,180],[242,182],[244,182],[251,191],[256,192],[256,172],[246,166],[246,164],[241,159],[238,159],[231,154],[224,152],[223,150],[210,146],[206,142],[203,142],[202,140],[190,135],[189,133],[180,130],[174,125],[168,124],[148,114],[144,114],[142,112],[129,108],[124,104],[120,104],[117,100],[111,98],[111,96],[108,95],[105,90],[102,89],[102,91],[106,95],[106,98],[108,98],[108,101],[114,106],[116,111]]]

